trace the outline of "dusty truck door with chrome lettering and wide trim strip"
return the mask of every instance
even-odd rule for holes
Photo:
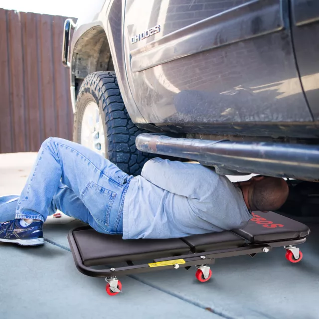
[[[213,133],[312,121],[288,0],[126,0],[125,61],[147,122]]]

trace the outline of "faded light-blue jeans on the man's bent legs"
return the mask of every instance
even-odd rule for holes
[[[57,209],[106,234],[123,234],[129,176],[97,153],[58,138],[45,140],[20,196],[0,197],[0,222],[45,221]]]

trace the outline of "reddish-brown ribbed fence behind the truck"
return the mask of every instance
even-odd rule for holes
[[[72,139],[65,19],[0,9],[0,153],[38,151],[50,136]]]

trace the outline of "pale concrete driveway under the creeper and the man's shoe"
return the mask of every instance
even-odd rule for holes
[[[19,193],[34,153],[0,155],[0,195]],[[81,224],[48,218],[45,245],[0,243],[0,318],[319,318],[319,225],[301,246],[304,259],[291,264],[283,248],[255,258],[217,260],[207,283],[195,269],[120,278],[123,294],[111,297],[104,279],[79,273],[67,243]]]

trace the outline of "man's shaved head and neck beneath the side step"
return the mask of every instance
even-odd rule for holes
[[[254,176],[239,184],[246,206],[250,210],[278,210],[289,193],[287,182],[278,177]]]

